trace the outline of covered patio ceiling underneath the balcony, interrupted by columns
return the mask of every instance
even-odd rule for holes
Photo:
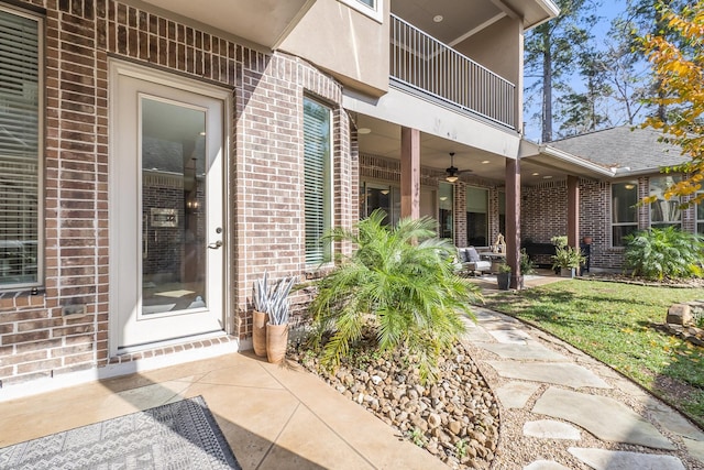
[[[358,129],[369,129],[369,133],[359,133],[360,152],[378,155],[389,160],[400,159],[400,125],[369,116],[356,117]],[[568,174],[590,178],[605,177],[609,172],[604,168],[584,167],[571,155],[541,153],[537,144],[525,142],[531,147],[520,161],[521,184],[537,185],[546,181],[560,181]],[[428,133],[420,136],[420,164],[440,172],[450,166],[450,152],[454,152],[454,166],[460,171],[471,170],[470,175],[503,182],[506,176],[506,159],[490,152],[464,145],[449,139]],[[544,150],[543,150],[544,152]]]

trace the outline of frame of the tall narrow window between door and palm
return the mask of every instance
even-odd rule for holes
[[[333,109],[324,101],[317,99],[308,94],[304,95],[304,145],[305,145],[305,102],[306,100],[312,101],[318,106],[321,106],[327,109],[329,117],[329,135],[330,141],[328,142],[328,161],[326,162],[326,171],[323,172],[323,209],[326,214],[323,214],[323,232],[330,230],[334,225],[334,189],[333,189],[333,159],[334,159],[334,119],[333,119]],[[306,199],[306,187],[305,187],[305,173],[306,173],[306,161],[305,161],[305,150],[304,150],[304,259],[306,267],[317,267],[326,264],[330,264],[333,261],[332,256],[332,244],[330,242],[323,241],[322,247],[322,260],[316,262],[309,262],[308,258],[308,249],[306,247],[306,208],[305,208],[305,199]]]

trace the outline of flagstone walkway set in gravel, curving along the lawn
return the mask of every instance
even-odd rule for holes
[[[494,468],[704,469],[704,433],[675,409],[550,335],[476,316],[465,343],[502,406]]]

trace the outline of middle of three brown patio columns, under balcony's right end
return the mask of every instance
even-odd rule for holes
[[[518,288],[520,256],[520,161],[506,159],[506,263],[510,266],[510,287]]]

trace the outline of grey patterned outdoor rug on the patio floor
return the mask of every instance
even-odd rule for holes
[[[1,448],[0,468],[241,469],[202,396]]]

